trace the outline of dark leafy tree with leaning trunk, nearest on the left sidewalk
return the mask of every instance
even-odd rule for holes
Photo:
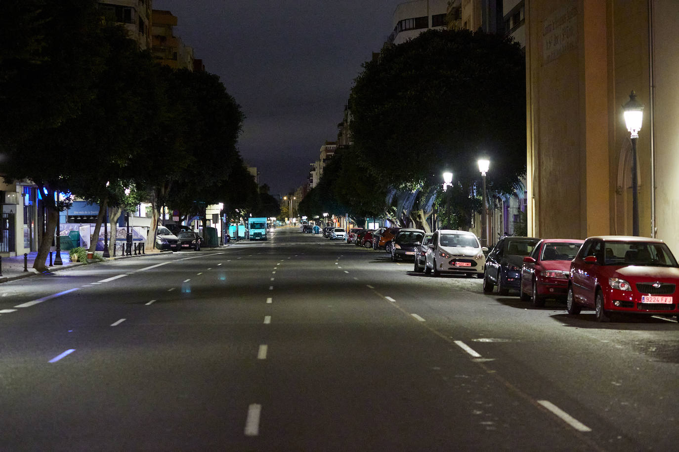
[[[64,207],[56,194],[67,192],[80,176],[70,164],[83,157],[63,133],[65,123],[96,97],[109,48],[94,0],[29,0],[8,7],[19,22],[10,27],[18,39],[4,29],[0,33],[5,49],[0,60],[0,173],[7,182],[31,180],[45,194],[47,224],[33,264],[43,271]]]

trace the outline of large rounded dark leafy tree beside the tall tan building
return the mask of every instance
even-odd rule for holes
[[[454,173],[454,203],[469,228],[477,159],[488,188],[511,191],[526,171],[525,59],[511,38],[429,30],[364,64],[351,94],[354,144],[380,180],[429,192]]]

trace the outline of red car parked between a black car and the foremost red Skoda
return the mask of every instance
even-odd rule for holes
[[[543,239],[524,258],[521,268],[521,300],[545,306],[545,298],[566,297],[572,261],[584,240]]]

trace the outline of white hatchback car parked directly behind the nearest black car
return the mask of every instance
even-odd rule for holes
[[[466,230],[439,229],[434,232],[424,260],[424,272],[476,275],[483,278],[485,255],[476,234]]]

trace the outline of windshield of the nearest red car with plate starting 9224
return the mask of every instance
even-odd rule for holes
[[[665,243],[606,242],[605,245],[604,265],[678,266]]]

